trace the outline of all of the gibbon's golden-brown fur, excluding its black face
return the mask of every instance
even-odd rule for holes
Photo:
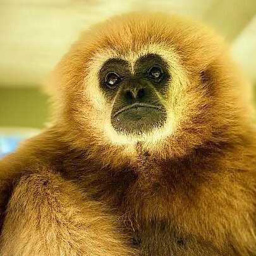
[[[157,52],[168,122],[109,125],[97,72]],[[247,85],[209,28],[135,13],[85,32],[52,75],[52,126],[0,162],[1,255],[255,255],[256,141]]]

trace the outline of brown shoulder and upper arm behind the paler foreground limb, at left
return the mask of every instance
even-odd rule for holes
[[[56,169],[52,162],[56,152],[63,149],[58,138],[59,135],[53,127],[47,128],[39,135],[25,140],[15,152],[0,160],[0,230],[15,181],[24,174],[39,172],[42,167]]]

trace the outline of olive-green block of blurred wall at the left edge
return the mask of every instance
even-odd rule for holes
[[[47,96],[39,88],[0,87],[0,126],[42,128],[48,115]]]

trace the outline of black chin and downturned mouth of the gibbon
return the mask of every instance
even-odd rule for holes
[[[111,124],[121,133],[141,134],[164,125],[166,111],[162,106],[135,103],[113,113]]]

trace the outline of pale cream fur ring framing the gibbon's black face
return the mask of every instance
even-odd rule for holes
[[[113,106],[107,102],[99,86],[99,71],[108,59],[119,58],[128,61],[131,72],[134,73],[134,66],[137,59],[147,54],[158,54],[169,65],[171,81],[166,100],[162,102],[167,111],[166,123],[160,128],[153,128],[147,133],[142,133],[142,135],[124,135],[114,130],[111,125],[111,110]],[[113,49],[104,49],[92,57],[88,67],[90,70],[88,70],[85,81],[85,94],[97,112],[97,114],[94,113],[90,118],[93,119],[91,122],[94,123],[96,131],[100,133],[99,137],[101,137],[101,140],[106,140],[106,143],[110,145],[126,145],[127,152],[132,152],[137,142],[144,142],[145,147],[153,151],[157,150],[154,147],[159,147],[159,143],[164,143],[166,137],[171,135],[178,126],[179,115],[181,113],[172,104],[176,101],[177,95],[180,95],[180,92],[188,83],[185,70],[181,68],[180,59],[174,49],[166,44],[149,44],[137,52],[130,50],[125,55],[120,55]]]

